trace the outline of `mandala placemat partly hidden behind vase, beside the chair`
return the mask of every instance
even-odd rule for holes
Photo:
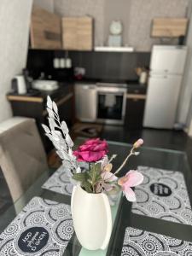
[[[80,163],[81,169],[87,169],[86,163]],[[62,195],[72,195],[73,184],[67,176],[67,169],[61,166],[54,174],[43,184],[43,189],[48,189]]]

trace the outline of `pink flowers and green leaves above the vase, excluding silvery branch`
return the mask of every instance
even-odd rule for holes
[[[108,159],[108,143],[99,138],[85,141],[83,145],[73,151],[73,154],[79,162],[89,163],[89,169],[87,172],[74,173],[73,179],[79,181],[81,187],[88,193],[103,192],[111,195],[116,194],[119,190],[123,190],[128,201],[136,201],[136,196],[131,187],[142,183],[143,175],[133,170],[127,172],[124,177],[117,177],[117,175],[131,155],[138,154],[135,149],[139,148],[142,144],[142,139],[137,140],[122,165],[119,166],[118,170],[112,172],[112,161],[117,155],[113,154]]]

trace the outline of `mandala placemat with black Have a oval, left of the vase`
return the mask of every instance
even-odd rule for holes
[[[72,236],[70,207],[34,197],[0,235],[0,256],[61,256]]]

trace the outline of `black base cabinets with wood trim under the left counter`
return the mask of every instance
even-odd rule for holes
[[[44,143],[46,152],[49,152],[53,146],[49,139],[44,136],[42,124],[48,125],[48,113],[46,110],[46,93],[39,93],[38,96],[21,96],[9,94],[7,96],[14,116],[24,116],[36,119],[38,131]],[[74,123],[74,93],[73,85],[63,85],[59,90],[49,92],[49,96],[56,102],[61,120],[67,122],[68,127]]]

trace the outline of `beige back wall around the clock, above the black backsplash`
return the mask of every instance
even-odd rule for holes
[[[122,20],[124,44],[149,51],[152,44],[160,44],[159,39],[150,38],[153,18],[185,17],[188,4],[189,0],[55,0],[54,8],[61,16],[94,17],[96,45],[107,43],[111,20]]]

